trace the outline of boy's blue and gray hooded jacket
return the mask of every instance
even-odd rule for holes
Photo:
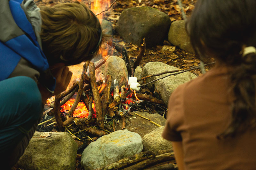
[[[40,9],[33,0],[0,0],[0,81],[28,76],[55,89],[48,61],[42,51]]]

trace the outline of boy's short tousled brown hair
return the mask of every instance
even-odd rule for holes
[[[92,59],[100,41],[99,20],[88,7],[75,3],[41,6],[43,51],[50,65],[74,65]]]

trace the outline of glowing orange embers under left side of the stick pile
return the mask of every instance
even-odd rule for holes
[[[68,113],[74,102],[75,102],[75,99],[69,99],[64,105],[62,105],[60,107],[61,108],[60,112]],[[94,112],[92,112],[92,118],[96,118],[96,114],[95,114],[96,110],[95,110],[95,106],[94,106],[94,101],[92,103],[92,108],[94,111]],[[76,110],[73,113],[73,117],[87,118],[88,115],[89,115],[89,112],[88,112],[84,102],[79,102],[76,107]]]

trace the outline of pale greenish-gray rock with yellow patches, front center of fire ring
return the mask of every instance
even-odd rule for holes
[[[100,137],[84,149],[81,164],[85,170],[97,169],[142,151],[140,135],[118,130]]]

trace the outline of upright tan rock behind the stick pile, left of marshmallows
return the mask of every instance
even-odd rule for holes
[[[112,86],[114,85],[115,79],[119,82],[120,87],[128,83],[128,73],[124,60],[122,58],[117,56],[109,56],[107,62],[103,64],[100,68],[104,75],[109,74],[112,76]]]

